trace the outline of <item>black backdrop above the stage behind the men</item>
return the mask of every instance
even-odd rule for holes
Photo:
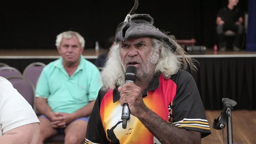
[[[155,26],[177,39],[196,39],[196,45],[212,48],[218,42],[215,19],[228,0],[139,0],[138,14],[149,14]],[[54,0],[1,2],[1,49],[54,49],[56,36],[68,30],[79,32],[85,48],[102,48],[134,0]],[[247,12],[248,0],[239,6]]]

